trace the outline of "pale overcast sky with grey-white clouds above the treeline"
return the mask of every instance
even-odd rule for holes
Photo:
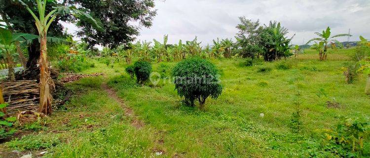
[[[293,44],[302,44],[327,26],[333,34],[351,29],[350,40],[360,35],[370,39],[370,0],[156,0],[155,4],[158,15],[153,26],[143,28],[138,40],[162,41],[168,34],[169,43],[177,43],[197,36],[206,45],[213,39],[233,38],[240,16],[261,24],[281,22],[290,36],[296,34]]]

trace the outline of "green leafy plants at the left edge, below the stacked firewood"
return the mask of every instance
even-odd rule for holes
[[[6,103],[0,104],[0,109],[5,108],[6,106]],[[0,140],[17,131],[12,127],[16,120],[17,118],[15,117],[5,118],[5,114],[0,112]]]

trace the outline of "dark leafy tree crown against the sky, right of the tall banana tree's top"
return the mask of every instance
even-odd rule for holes
[[[89,19],[81,19],[77,35],[93,47],[96,44],[115,48],[128,44],[139,35],[140,26],[150,27],[156,10],[153,0],[68,0],[69,5],[80,10],[89,10],[106,29],[100,31],[91,25]],[[138,22],[140,26],[132,25]]]

